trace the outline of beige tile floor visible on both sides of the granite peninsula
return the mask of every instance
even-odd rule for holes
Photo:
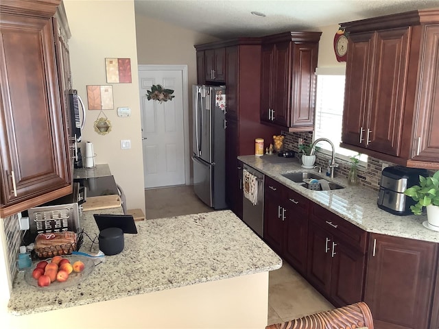
[[[145,190],[146,219],[213,211],[193,193],[192,186]],[[334,306],[284,262],[271,271],[268,288],[268,324],[296,319]]]

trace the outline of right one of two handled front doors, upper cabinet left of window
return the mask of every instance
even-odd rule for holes
[[[291,108],[291,42],[279,42],[274,45],[274,69],[272,87],[273,123],[288,127]]]

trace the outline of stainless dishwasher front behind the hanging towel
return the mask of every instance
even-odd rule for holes
[[[249,199],[242,198],[242,221],[247,224],[256,234],[263,237],[263,173],[244,164],[244,170],[257,177],[258,195],[257,203],[254,205]],[[243,173],[244,175],[244,173]],[[244,177],[243,177],[244,182]]]

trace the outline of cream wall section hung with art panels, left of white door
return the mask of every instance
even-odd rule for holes
[[[64,0],[64,6],[72,35],[69,49],[73,88],[83,99],[86,85],[107,84],[105,58],[131,59],[132,83],[112,84],[115,110],[104,110],[112,123],[111,132],[97,134],[93,123],[99,111],[87,110],[83,141],[93,143],[96,163],[109,164],[126,194],[128,208],[145,212],[134,1]],[[131,108],[131,117],[117,117],[121,106]],[[121,149],[122,139],[131,141],[131,149]],[[81,150],[84,156],[84,145]]]

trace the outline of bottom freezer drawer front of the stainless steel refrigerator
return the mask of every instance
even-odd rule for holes
[[[193,191],[204,204],[213,207],[212,202],[212,165],[192,156]]]

